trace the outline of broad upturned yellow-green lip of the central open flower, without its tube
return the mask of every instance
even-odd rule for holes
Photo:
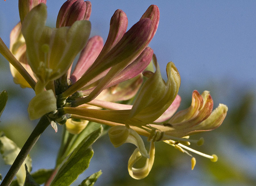
[[[154,55],[156,72],[146,80],[136,98],[129,118],[136,118],[146,123],[158,119],[170,107],[178,94],[180,75],[175,65],[170,62],[166,66],[168,80],[162,79],[159,65]]]

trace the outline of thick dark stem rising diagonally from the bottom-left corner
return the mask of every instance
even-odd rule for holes
[[[28,137],[28,140],[23,145],[22,149],[20,150],[20,153],[14,160],[10,170],[7,172],[4,180],[1,183],[1,186],[9,186],[14,179],[16,173],[20,169],[20,166],[28,156],[28,153],[33,148],[34,144],[36,144],[37,140],[41,136],[41,134],[44,132],[44,130],[49,126],[50,122],[47,119],[46,116],[43,116],[38,124],[36,125],[34,131],[32,131],[31,135]]]

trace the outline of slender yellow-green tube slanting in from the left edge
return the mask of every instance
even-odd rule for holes
[[[28,84],[35,88],[36,82],[31,77],[31,75],[26,71],[26,69],[20,64],[20,62],[14,57],[12,52],[8,49],[6,44],[4,44],[3,40],[0,38],[0,53],[18,70],[18,72],[26,79]]]

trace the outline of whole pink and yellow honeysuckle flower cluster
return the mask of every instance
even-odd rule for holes
[[[66,123],[72,134],[80,133],[89,121],[111,126],[108,135],[115,147],[124,143],[137,147],[128,160],[128,172],[134,179],[149,174],[157,141],[191,156],[192,169],[196,160],[188,151],[217,160],[216,155],[189,148],[190,143],[201,145],[203,139],[191,140],[188,136],[219,127],[228,108],[220,104],[212,111],[210,93],[194,91],[191,106],[176,113],[181,102],[178,69],[169,62],[168,79],[164,81],[156,55],[148,47],[159,22],[156,5],[151,5],[128,31],[126,14],[116,10],[104,44],[100,36],[89,38],[89,1],[66,1],[56,28],[45,26],[45,3],[19,1],[21,22],[10,34],[10,51],[21,64],[19,69],[10,65],[14,82],[36,93],[28,105],[30,119],[47,115],[56,131],[56,123]],[[153,66],[155,70],[150,70]],[[21,75],[22,71],[27,75]],[[122,104],[134,97],[132,105]],[[140,135],[148,137],[149,151]],[[145,166],[134,168],[142,156],[147,158]]]

